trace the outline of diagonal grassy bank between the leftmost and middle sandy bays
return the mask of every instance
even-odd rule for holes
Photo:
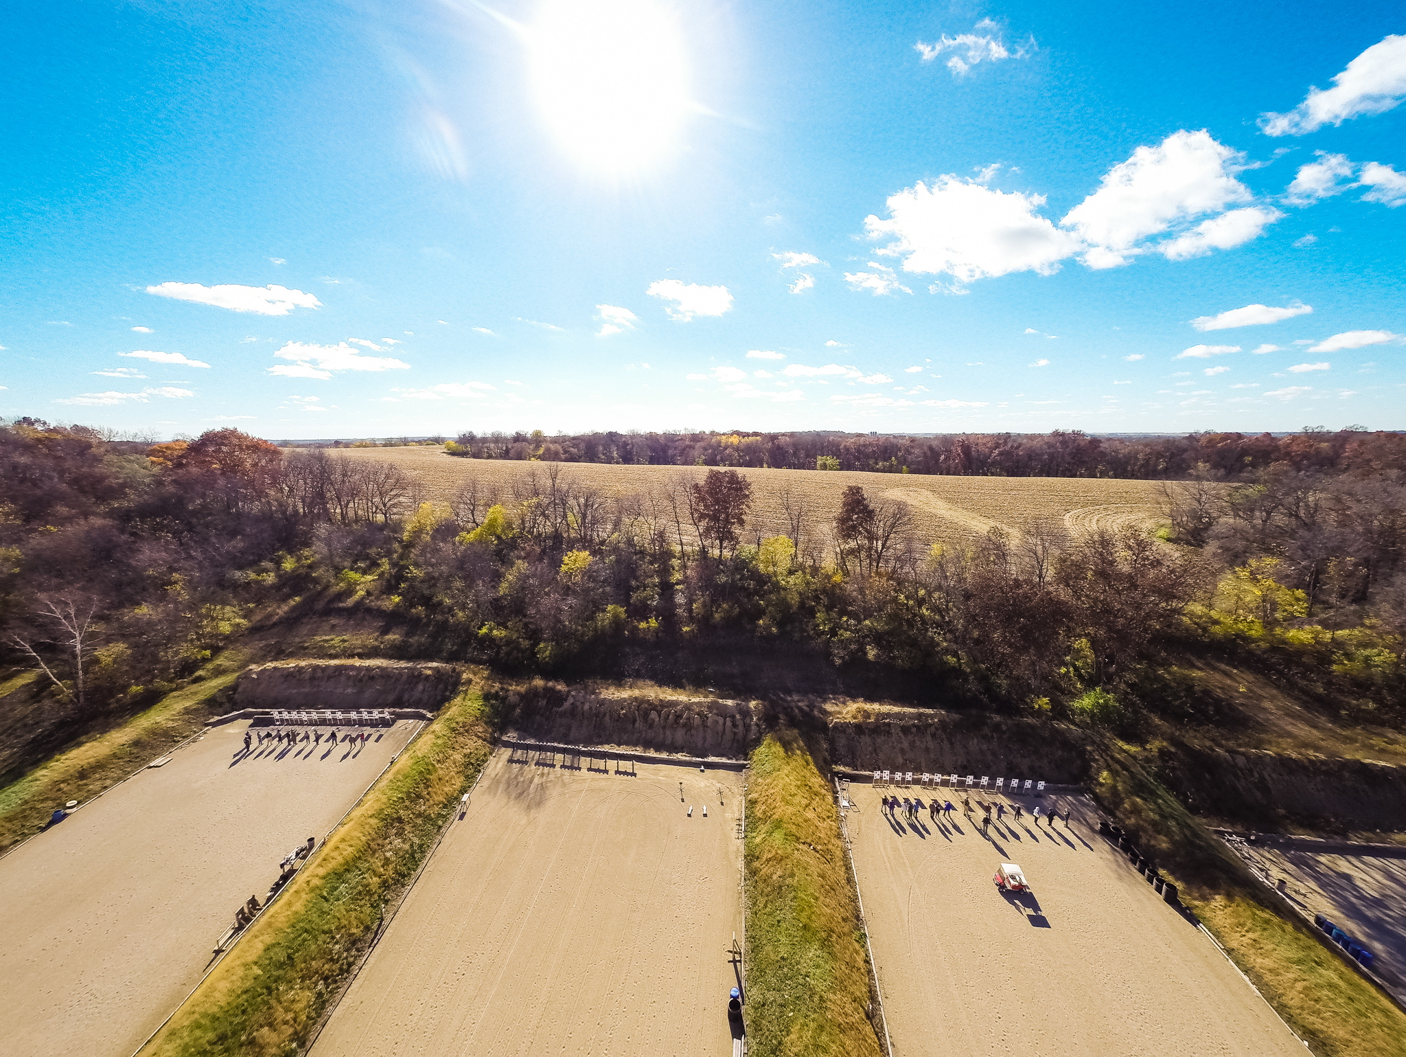
[[[446,705],[148,1047],[295,1054],[488,760],[482,697]]]

